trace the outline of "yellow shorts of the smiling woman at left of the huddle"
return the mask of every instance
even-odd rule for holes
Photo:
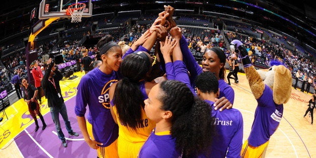
[[[89,136],[94,139],[93,134],[92,134],[92,124],[90,124],[87,122],[87,130],[88,130],[88,134]],[[118,158],[118,152],[117,152],[117,139],[109,146],[107,147],[99,147],[97,149],[98,152],[98,157],[100,158],[108,158],[108,157],[114,157],[114,158]]]

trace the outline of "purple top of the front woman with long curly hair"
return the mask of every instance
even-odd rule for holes
[[[176,138],[172,138],[171,134],[156,135],[151,132],[148,139],[141,147],[139,158],[153,157],[181,157],[181,154],[176,150]]]

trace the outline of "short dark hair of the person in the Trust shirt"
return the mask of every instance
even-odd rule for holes
[[[218,81],[214,73],[207,71],[199,74],[195,80],[195,86],[202,93],[217,93]]]

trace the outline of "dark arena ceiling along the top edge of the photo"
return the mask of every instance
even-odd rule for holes
[[[57,0],[56,0],[57,1]],[[41,0],[31,1],[2,1],[4,4],[3,9],[0,11],[0,29],[3,27],[9,27],[11,25],[30,25],[29,17],[33,8],[39,7]],[[218,12],[238,17],[243,17],[255,22],[263,24],[261,27],[272,27],[283,31],[297,39],[308,40],[309,44],[315,45],[316,34],[316,5],[315,2],[310,0],[301,1],[284,1],[284,0],[248,0],[248,1],[104,1],[93,0],[94,10],[93,14],[131,11],[131,10],[162,10],[163,5],[168,4],[175,9],[187,9],[199,11],[197,14],[201,14],[202,11]],[[248,4],[248,5],[247,5]],[[249,5],[251,4],[251,5]],[[254,14],[240,13],[240,11],[234,11],[229,9],[221,9],[215,7],[215,5],[229,6],[233,8],[245,9],[251,11]],[[259,6],[261,9],[258,7]],[[98,9],[96,9],[97,7]],[[265,9],[265,10],[263,10]],[[279,15],[276,16],[275,14]],[[283,17],[282,18],[280,18]],[[26,17],[22,18],[21,17]],[[286,22],[288,19],[290,22]],[[273,25],[273,22],[264,21],[263,19],[271,19],[271,21],[277,21],[280,25]],[[296,25],[295,25],[296,24]],[[299,26],[299,27],[298,27]],[[307,30],[307,31],[306,31]],[[309,32],[308,32],[309,31]],[[0,31],[0,37],[6,36]]]

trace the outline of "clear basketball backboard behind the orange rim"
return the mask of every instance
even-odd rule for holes
[[[70,15],[66,14],[66,9],[72,4],[84,3],[86,8],[82,17],[92,16],[92,3],[91,0],[42,0],[39,7],[38,19],[48,18],[70,18]]]

